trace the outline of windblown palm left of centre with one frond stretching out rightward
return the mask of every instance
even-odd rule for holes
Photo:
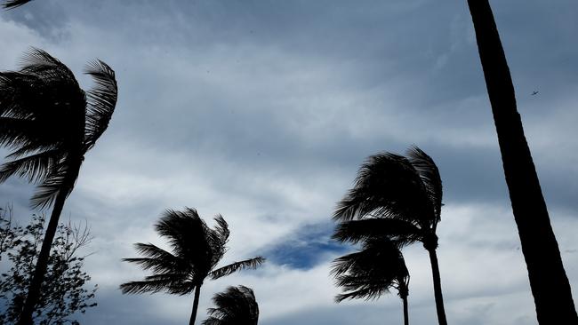
[[[193,312],[189,324],[197,318],[198,298],[203,282],[208,277],[216,280],[241,269],[256,268],[265,258],[257,257],[215,268],[227,251],[229,226],[221,215],[214,218],[214,229],[206,225],[197,210],[167,210],[155,226],[157,233],[168,239],[173,252],[158,248],[151,243],[136,243],[136,250],[144,258],[124,258],[152,275],[143,281],[121,284],[124,294],[165,291],[171,294],[187,295],[195,291]]]

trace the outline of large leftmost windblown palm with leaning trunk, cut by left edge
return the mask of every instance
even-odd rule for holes
[[[60,212],[72,192],[84,155],[107,129],[116,106],[115,72],[100,60],[88,65],[96,86],[84,92],[72,72],[47,52],[32,49],[19,71],[0,73],[0,146],[10,161],[0,183],[13,175],[38,184],[34,208],[52,205],[20,325],[32,322]]]

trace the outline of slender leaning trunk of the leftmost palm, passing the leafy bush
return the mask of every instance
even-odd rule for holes
[[[30,281],[28,296],[26,297],[24,307],[20,313],[20,320],[18,321],[18,325],[33,324],[32,314],[34,313],[36,304],[40,298],[40,289],[42,282],[44,281],[46,268],[48,267],[48,258],[50,258],[52,241],[54,240],[54,235],[56,234],[56,229],[58,228],[60,213],[62,212],[62,208],[64,207],[64,202],[66,201],[68,193],[69,191],[67,190],[60,190],[59,194],[56,196],[56,200],[54,201],[54,207],[52,208],[50,221],[48,222],[48,227],[46,227],[42,248],[40,249],[40,254],[38,254],[34,276],[32,277],[32,281]]]

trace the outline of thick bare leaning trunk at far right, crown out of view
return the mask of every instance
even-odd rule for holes
[[[468,0],[510,201],[541,324],[578,323],[558,242],[516,107],[510,68],[487,0]]]

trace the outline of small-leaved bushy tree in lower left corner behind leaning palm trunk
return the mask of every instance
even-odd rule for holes
[[[19,319],[42,242],[44,221],[44,215],[34,215],[28,226],[18,226],[12,222],[12,209],[0,211],[0,260],[5,256],[6,266],[10,266],[0,274],[0,301],[4,305],[0,324],[14,324]],[[84,288],[91,278],[83,271],[85,257],[77,253],[91,239],[86,226],[58,226],[34,310],[36,324],[77,324],[72,319],[74,313],[84,313],[96,305],[93,299],[97,286]]]

